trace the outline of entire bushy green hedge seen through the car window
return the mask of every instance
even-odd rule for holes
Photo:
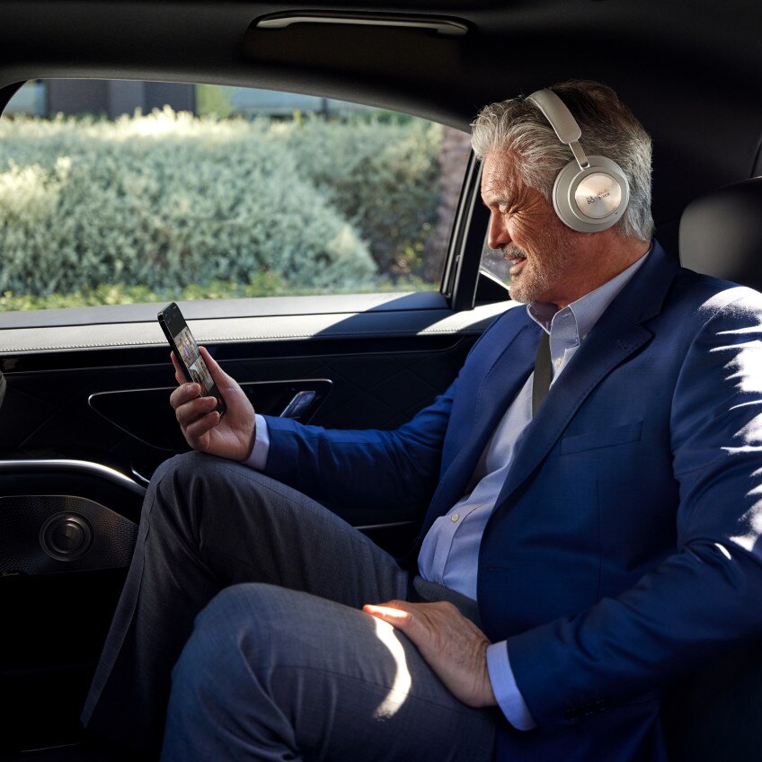
[[[0,294],[379,284],[412,271],[400,261],[434,215],[439,139],[414,121],[169,110],[0,120]]]

